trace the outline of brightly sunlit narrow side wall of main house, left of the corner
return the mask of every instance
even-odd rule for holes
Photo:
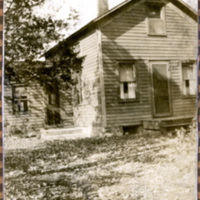
[[[94,31],[79,40],[81,56],[85,56],[82,69],[82,102],[74,106],[76,126],[101,125],[100,80],[98,67],[98,33]]]

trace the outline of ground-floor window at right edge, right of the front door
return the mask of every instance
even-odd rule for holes
[[[183,95],[196,94],[196,79],[194,63],[182,63]]]

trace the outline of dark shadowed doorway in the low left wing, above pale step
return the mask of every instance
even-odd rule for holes
[[[59,90],[56,87],[52,87],[51,91],[48,93],[48,104],[46,113],[48,125],[59,125],[61,123],[59,105]]]

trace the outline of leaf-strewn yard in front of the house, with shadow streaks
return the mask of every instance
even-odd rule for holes
[[[5,200],[195,200],[196,131],[6,139]]]

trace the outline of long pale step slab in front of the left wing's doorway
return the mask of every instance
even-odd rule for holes
[[[41,129],[40,136],[44,140],[72,140],[91,137],[91,130],[86,127]]]

